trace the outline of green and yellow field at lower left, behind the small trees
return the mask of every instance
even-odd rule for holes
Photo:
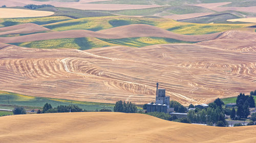
[[[9,100],[9,103],[8,103]],[[42,108],[46,103],[50,103],[53,107],[58,105],[77,105],[82,109],[94,111],[101,108],[111,108],[113,110],[114,104],[109,103],[96,103],[96,102],[84,102],[74,101],[66,99],[56,98],[44,98],[20,95],[10,92],[0,92],[0,108],[10,109],[10,106],[25,106],[26,108]],[[6,108],[5,106],[9,106]]]

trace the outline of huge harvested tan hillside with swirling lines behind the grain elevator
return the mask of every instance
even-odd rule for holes
[[[108,33],[108,31],[104,31]],[[256,33],[229,31],[197,44],[31,49],[3,44],[0,90],[31,96],[139,104],[155,83],[184,105],[255,90]],[[33,53],[33,54],[31,54]]]

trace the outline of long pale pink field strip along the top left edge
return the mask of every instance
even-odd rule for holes
[[[93,1],[89,1],[93,2]],[[89,2],[79,1],[79,2],[37,2],[32,0],[8,0],[8,1],[0,1],[0,6],[6,5],[7,7],[23,7],[25,5],[34,4],[34,5],[53,5],[55,7],[64,7],[64,8],[75,8],[81,10],[124,10],[124,9],[145,9],[145,8],[155,8],[160,7],[158,5],[122,5],[122,4],[87,4]],[[96,1],[94,1],[96,2]]]

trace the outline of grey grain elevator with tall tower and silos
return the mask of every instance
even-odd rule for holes
[[[158,85],[157,82],[156,102],[154,104],[147,104],[147,112],[172,112],[174,108],[169,107],[170,97],[165,96],[165,89],[158,89]]]

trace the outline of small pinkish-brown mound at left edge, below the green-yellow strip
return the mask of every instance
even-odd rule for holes
[[[50,31],[48,28],[39,26],[34,23],[25,23],[14,26],[0,28],[0,35],[5,34],[28,34],[42,31]]]

